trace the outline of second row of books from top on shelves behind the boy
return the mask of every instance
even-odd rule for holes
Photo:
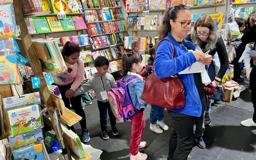
[[[103,10],[88,10],[85,11],[86,22],[97,22],[105,20],[118,20],[124,19],[121,9],[109,9],[104,12]]]

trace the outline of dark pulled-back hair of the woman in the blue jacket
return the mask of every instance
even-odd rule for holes
[[[164,19],[159,31],[158,42],[164,39],[168,33],[171,32],[172,26],[170,24],[170,20],[176,20],[177,14],[180,12],[180,10],[189,10],[189,8],[184,4],[178,4],[170,7],[167,11],[164,12]]]

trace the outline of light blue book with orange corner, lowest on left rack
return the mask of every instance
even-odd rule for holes
[[[33,146],[14,150],[12,151],[12,154],[15,160],[44,160],[43,147],[44,146],[41,143],[35,144]]]

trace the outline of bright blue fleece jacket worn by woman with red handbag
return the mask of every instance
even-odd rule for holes
[[[194,74],[178,74],[180,71],[195,63],[196,57],[192,52],[188,52],[184,46],[181,46],[170,33],[168,33],[168,36],[166,36],[165,39],[170,39],[172,41],[176,50],[176,58],[173,58],[173,47],[169,41],[164,40],[158,44],[154,63],[155,74],[159,78],[170,77],[172,75],[179,76],[183,81],[186,99],[184,108],[170,110],[189,116],[199,117],[202,114],[202,104],[194,81]],[[182,41],[191,49],[196,49],[194,44],[191,42],[185,39]]]

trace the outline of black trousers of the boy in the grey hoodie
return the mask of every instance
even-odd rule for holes
[[[107,118],[109,116],[111,127],[116,126],[116,117],[112,113],[109,102],[101,102],[98,100],[98,108],[100,111],[100,128],[102,131],[107,131]],[[108,114],[107,114],[108,112]]]

